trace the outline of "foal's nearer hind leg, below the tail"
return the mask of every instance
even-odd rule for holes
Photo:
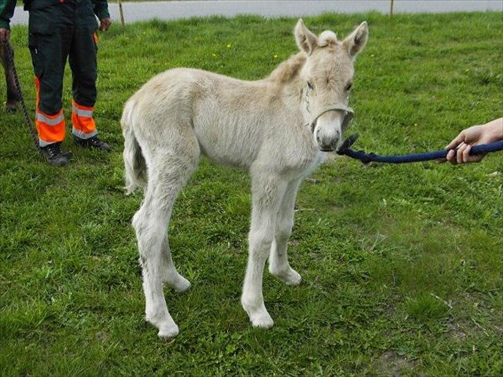
[[[174,267],[167,270],[167,243],[163,245],[163,242],[176,196],[198,162],[199,149],[197,144],[187,142],[184,155],[171,153],[146,154],[149,183],[144,202],[133,218],[142,264],[146,320],[159,329],[158,336],[164,339],[176,336],[178,326],[169,314],[162,291],[167,271],[174,270]],[[178,273],[175,276],[178,277]]]

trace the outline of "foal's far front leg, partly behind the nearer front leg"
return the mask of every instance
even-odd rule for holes
[[[276,219],[276,231],[269,254],[269,272],[288,285],[301,284],[302,278],[290,267],[287,257],[287,242],[294,226],[294,207],[301,180],[288,184]]]

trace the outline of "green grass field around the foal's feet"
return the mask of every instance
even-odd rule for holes
[[[351,100],[360,148],[434,150],[462,128],[502,116],[501,14],[323,14],[305,22],[346,35],[362,19],[370,41]],[[170,225],[175,264],[193,284],[182,295],[165,291],[180,335],[161,342],[144,322],[130,225],[142,197],[122,192],[124,101],[177,66],[264,77],[296,51],[295,21],[113,26],[99,41],[95,112],[111,154],[68,138],[72,164],[51,168],[22,115],[1,113],[2,376],[503,373],[497,153],[456,167],[362,167],[345,158],[322,166],[313,174],[319,183],[306,182],[298,195],[290,240],[303,284],[292,289],[265,274],[270,331],[252,329],[239,303],[249,179],[202,160]],[[13,28],[12,43],[33,108],[25,27]],[[67,70],[66,109],[70,88]]]

